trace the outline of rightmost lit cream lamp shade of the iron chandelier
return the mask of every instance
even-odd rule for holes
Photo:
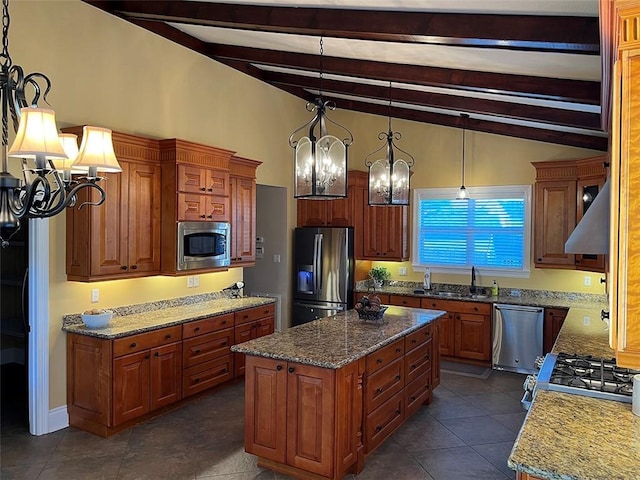
[[[82,143],[78,158],[72,168],[95,167],[98,172],[118,173],[122,171],[113,151],[111,130],[108,128],[82,127]]]

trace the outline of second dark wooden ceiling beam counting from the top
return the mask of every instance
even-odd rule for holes
[[[319,55],[230,45],[207,44],[206,54],[216,60],[242,60],[316,72],[320,66]],[[324,73],[337,75],[589,105],[600,104],[599,82],[374,62],[326,55],[322,57],[322,64]]]

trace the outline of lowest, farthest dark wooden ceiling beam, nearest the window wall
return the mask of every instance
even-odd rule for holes
[[[325,97],[329,99],[330,97]],[[339,109],[353,110],[362,113],[371,113],[386,117],[389,115],[388,107],[385,105],[375,105],[343,98],[332,99]],[[447,127],[462,128],[460,116],[445,115],[442,113],[424,112],[420,110],[404,109],[392,107],[391,116],[420,123],[431,123],[434,125],[444,125]],[[555,143],[559,145],[569,145],[573,147],[589,148],[592,150],[607,151],[608,140],[606,137],[595,135],[581,135],[577,133],[561,132],[558,130],[547,130],[520,125],[511,125],[500,122],[469,118],[465,124],[467,130],[504,135],[507,137],[524,138],[539,142]]]

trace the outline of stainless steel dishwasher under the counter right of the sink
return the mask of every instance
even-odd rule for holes
[[[542,356],[543,309],[520,305],[493,306],[493,368],[535,373]]]

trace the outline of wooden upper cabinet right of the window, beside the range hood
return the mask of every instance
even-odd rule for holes
[[[607,178],[606,156],[534,162],[534,263],[538,268],[603,272],[604,255],[565,253],[564,245]],[[585,201],[586,198],[591,200]]]

